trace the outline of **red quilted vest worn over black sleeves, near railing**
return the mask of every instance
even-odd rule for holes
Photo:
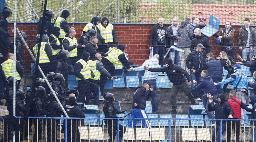
[[[237,102],[235,102],[234,100],[236,100]],[[232,110],[234,111],[234,115],[233,115],[233,118],[236,118],[236,119],[241,119],[242,118],[242,115],[241,115],[241,100],[237,99],[235,96],[231,97],[230,99],[227,100],[227,103],[230,104]]]

